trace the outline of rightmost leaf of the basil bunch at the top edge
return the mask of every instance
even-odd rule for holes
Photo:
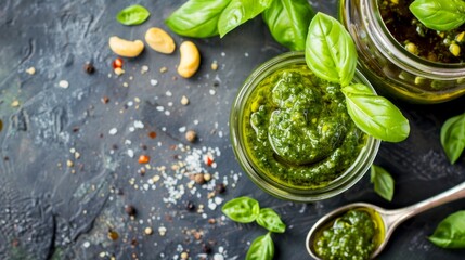
[[[274,40],[292,51],[306,49],[306,37],[313,15],[307,0],[273,0],[262,14]]]

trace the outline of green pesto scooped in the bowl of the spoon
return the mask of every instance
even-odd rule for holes
[[[322,259],[370,259],[377,246],[376,224],[370,213],[349,210],[321,231],[314,249]]]

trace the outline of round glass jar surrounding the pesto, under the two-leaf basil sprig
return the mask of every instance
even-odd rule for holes
[[[247,147],[246,144],[245,126],[248,123],[248,117],[251,113],[250,109],[247,110],[246,108],[248,107],[247,100],[251,99],[250,95],[254,90],[268,76],[277,69],[288,68],[295,65],[306,65],[302,52],[288,52],[281,54],[261,64],[250,74],[238,90],[235,101],[232,104],[230,114],[230,134],[236,159],[256,185],[269,194],[282,199],[310,203],[333,197],[357,183],[364,176],[376,157],[380,141],[367,135],[365,139],[366,141],[354,161],[340,172],[336,179],[325,183],[324,186],[310,188],[302,186],[297,187],[280,183],[273,180],[273,178],[267,176],[263,168],[261,168],[262,166],[259,166],[254,161],[249,151],[250,147]],[[356,72],[353,81],[371,87],[370,82],[358,70]],[[275,154],[273,154],[273,156]]]

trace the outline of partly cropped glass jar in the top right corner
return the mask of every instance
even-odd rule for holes
[[[380,93],[423,104],[465,93],[465,65],[435,63],[406,51],[385,26],[378,0],[340,0],[339,20],[356,42],[360,70]]]

